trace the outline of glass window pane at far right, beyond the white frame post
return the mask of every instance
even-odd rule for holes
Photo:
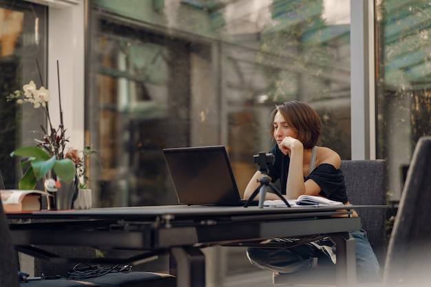
[[[430,1],[377,1],[378,156],[401,197],[417,140],[431,134]]]

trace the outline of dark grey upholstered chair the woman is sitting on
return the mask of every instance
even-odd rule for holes
[[[385,160],[342,160],[341,171],[346,181],[347,195],[351,204],[386,204]],[[386,257],[386,209],[357,210],[362,228],[375,251],[381,266]],[[383,269],[383,268],[382,268]],[[273,275],[274,286],[335,285],[335,265],[323,262],[320,269],[297,273]]]

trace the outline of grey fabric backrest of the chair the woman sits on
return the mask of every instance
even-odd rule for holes
[[[386,204],[385,160],[342,160],[341,171],[351,204]],[[383,266],[386,257],[386,209],[359,209],[362,228]]]

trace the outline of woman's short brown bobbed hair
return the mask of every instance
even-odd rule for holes
[[[274,118],[280,111],[286,123],[296,129],[298,140],[304,145],[304,149],[312,149],[317,145],[320,136],[320,117],[317,112],[304,102],[289,100],[280,105],[275,105],[271,114],[271,137],[274,138]],[[275,138],[274,138],[275,139]]]

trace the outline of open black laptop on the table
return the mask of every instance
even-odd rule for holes
[[[179,204],[244,205],[224,146],[178,147],[163,154]]]

